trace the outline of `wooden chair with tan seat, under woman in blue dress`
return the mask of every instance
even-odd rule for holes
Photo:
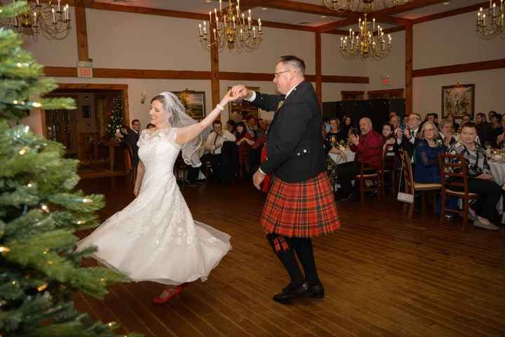
[[[438,183],[416,183],[414,181],[414,174],[412,173],[412,164],[410,162],[410,156],[407,151],[400,149],[400,158],[402,159],[402,170],[403,170],[403,179],[405,181],[405,193],[415,195],[415,192],[421,192],[422,197],[422,216],[426,216],[426,193],[433,193],[433,213],[436,213],[437,202],[436,196],[441,188],[442,184]],[[412,219],[414,214],[414,203],[403,204],[403,214],[408,213],[408,218]]]

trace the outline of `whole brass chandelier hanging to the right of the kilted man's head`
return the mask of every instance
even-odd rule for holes
[[[340,37],[339,50],[344,58],[385,58],[393,50],[391,34],[388,34],[386,41],[382,27],[375,27],[375,19],[371,24],[370,30],[370,22],[365,13],[363,21],[359,19],[357,34],[349,29],[349,37]]]

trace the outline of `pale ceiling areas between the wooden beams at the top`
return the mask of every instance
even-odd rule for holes
[[[379,0],[376,1],[378,5],[381,3]],[[408,19],[421,18],[426,15],[452,11],[454,9],[471,6],[473,4],[480,4],[483,1],[484,0],[447,0],[446,5],[436,4],[432,6],[426,6],[423,8],[415,9],[413,11],[398,13],[394,16]],[[95,0],[95,2],[117,4],[122,6],[139,6],[147,8],[167,9],[171,11],[183,11],[191,13],[208,13],[209,11],[213,11],[214,8],[219,7],[219,3],[215,0],[211,0],[210,3],[206,2],[205,0]],[[222,2],[224,6],[224,4],[227,3],[227,0],[223,0]],[[297,2],[324,6],[323,0],[297,0]],[[380,9],[381,6],[377,6],[377,8]],[[306,22],[304,25],[313,27],[323,25],[328,22],[342,20],[342,18],[336,18],[332,16],[323,17],[323,15],[284,11],[275,8],[266,8],[266,10],[262,10],[262,8],[257,7],[253,8],[252,13],[253,18],[261,18],[263,21],[281,22],[291,25],[299,25],[302,22]],[[392,25],[383,26],[386,28],[393,27]]]

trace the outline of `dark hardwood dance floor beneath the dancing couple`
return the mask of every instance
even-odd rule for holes
[[[103,219],[133,198],[126,178],[81,187],[106,195]],[[144,336],[505,336],[501,232],[404,219],[392,200],[339,203],[342,230],[314,239],[326,297],[280,305],[271,296],[288,276],[258,225],[264,196],[249,183],[183,193],[196,220],[232,237],[208,281],[165,305],[152,304],[163,289],[152,282],[114,286],[103,301],[77,293],[79,310]]]

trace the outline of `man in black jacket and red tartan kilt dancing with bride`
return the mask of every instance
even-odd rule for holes
[[[311,237],[339,229],[340,222],[326,176],[322,119],[316,93],[304,79],[305,63],[296,56],[277,62],[274,84],[281,95],[267,95],[234,86],[233,95],[275,111],[267,134],[267,160],[253,176],[257,189],[274,175],[261,225],[276,256],[290,275],[290,284],[274,296],[278,303],[294,298],[324,297]],[[299,268],[295,254],[304,269]]]

